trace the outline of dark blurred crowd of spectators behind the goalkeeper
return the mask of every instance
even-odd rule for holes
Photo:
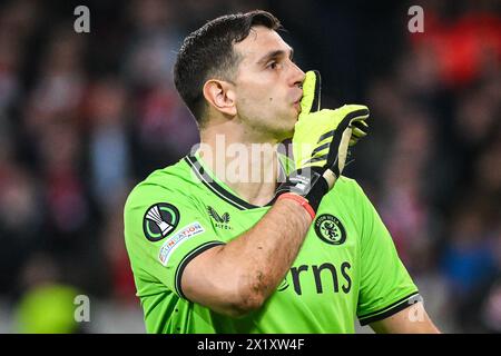
[[[76,33],[84,3],[90,33]],[[321,70],[325,106],[371,108],[346,175],[381,214],[432,318],[446,332],[500,333],[501,9],[421,1],[424,32],[411,33],[411,4],[2,1],[0,300],[17,310],[11,332],[38,330],[23,317],[30,293],[138,306],[125,199],[198,141],[173,83],[176,52],[208,19],[261,8],[282,20],[299,66]]]

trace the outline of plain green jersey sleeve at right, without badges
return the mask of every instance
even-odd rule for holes
[[[366,325],[406,308],[421,297],[381,217],[358,185],[356,189],[362,220],[357,316],[361,325]]]

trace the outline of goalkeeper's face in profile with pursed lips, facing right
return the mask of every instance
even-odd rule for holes
[[[305,75],[292,61],[291,47],[277,32],[257,26],[234,48],[243,57],[235,80],[242,122],[255,138],[281,141],[292,137]]]

